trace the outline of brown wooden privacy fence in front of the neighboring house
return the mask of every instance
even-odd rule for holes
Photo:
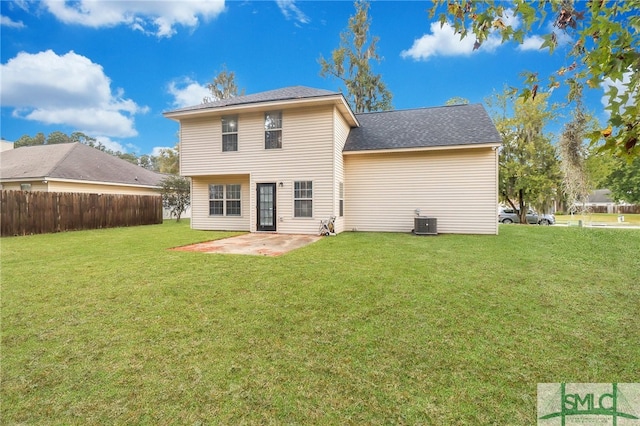
[[[2,191],[0,235],[162,223],[160,195]]]

